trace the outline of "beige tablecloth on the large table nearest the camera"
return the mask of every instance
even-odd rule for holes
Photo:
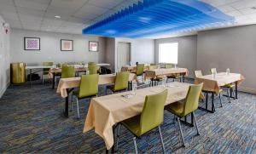
[[[89,110],[84,123],[84,133],[95,128],[105,141],[107,149],[113,146],[113,125],[130,117],[139,115],[143,110],[146,95],[157,94],[168,89],[166,105],[183,100],[189,90],[189,83],[168,83],[167,87],[155,86],[138,89],[135,96],[129,99],[122,97],[122,94],[110,94],[94,98],[90,101]]]

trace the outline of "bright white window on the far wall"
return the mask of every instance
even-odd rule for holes
[[[177,64],[177,46],[178,43],[160,43],[159,62]]]

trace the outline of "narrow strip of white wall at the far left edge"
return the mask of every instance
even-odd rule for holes
[[[0,98],[9,86],[9,33],[5,33],[3,23],[0,16]]]

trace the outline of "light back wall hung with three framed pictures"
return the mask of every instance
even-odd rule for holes
[[[24,37],[40,37],[41,50],[24,50]],[[61,51],[61,39],[73,40],[73,51]],[[27,64],[42,63],[43,61],[105,62],[105,38],[83,35],[70,35],[55,32],[26,31],[15,29],[10,35],[11,61],[26,62]],[[89,41],[98,41],[99,52],[89,52]]]

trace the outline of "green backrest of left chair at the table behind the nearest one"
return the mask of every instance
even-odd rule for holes
[[[99,75],[82,75],[80,81],[79,97],[88,97],[98,94]]]

